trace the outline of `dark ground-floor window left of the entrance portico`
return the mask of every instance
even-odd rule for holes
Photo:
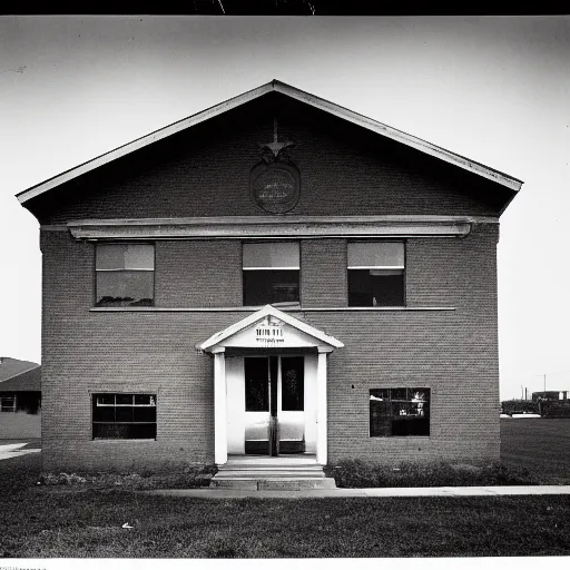
[[[94,394],[94,440],[156,440],[156,394]]]

